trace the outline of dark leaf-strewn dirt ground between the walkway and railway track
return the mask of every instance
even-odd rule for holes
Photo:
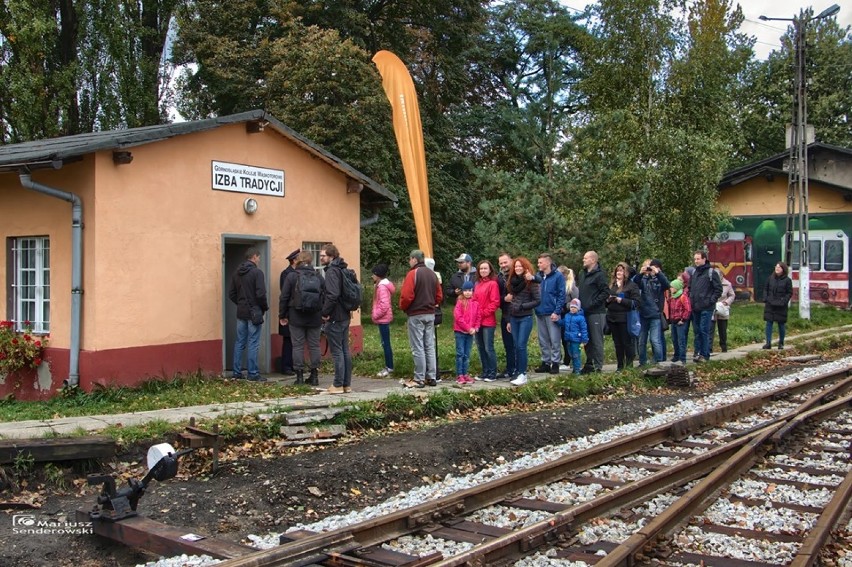
[[[498,456],[512,459],[541,446],[635,421],[648,410],[669,406],[684,397],[684,391],[666,391],[548,411],[459,420],[344,441],[286,457],[248,457],[226,463],[207,480],[152,482],[140,501],[139,512],[193,533],[247,543],[247,534],[283,532],[296,523],[360,509],[420,483],[440,481],[448,473],[476,471]],[[309,487],[319,492],[313,488],[309,491]],[[33,512],[38,519],[61,521],[67,516],[73,521],[76,510],[91,508],[97,491],[89,488],[85,495],[80,492],[51,494],[41,509]],[[0,514],[0,566],[128,566],[157,559],[93,535],[16,534],[14,513],[21,511],[6,511],[5,517]]]

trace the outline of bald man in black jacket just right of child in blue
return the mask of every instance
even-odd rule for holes
[[[606,300],[609,297],[609,282],[601,270],[598,253],[589,250],[583,255],[583,271],[580,272],[580,303],[589,328],[586,343],[586,364],[583,374],[600,372],[603,368],[603,330],[606,325]]]

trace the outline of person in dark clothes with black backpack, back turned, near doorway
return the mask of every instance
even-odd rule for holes
[[[290,329],[293,341],[294,384],[304,384],[305,342],[310,354],[308,384],[319,386],[320,327],[322,327],[322,299],[325,288],[322,277],[313,266],[310,252],[299,252],[295,257],[295,270],[284,278],[278,301],[278,322]]]

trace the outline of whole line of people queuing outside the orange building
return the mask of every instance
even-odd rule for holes
[[[296,376],[296,384],[318,385],[320,333],[325,332],[334,361],[330,393],[352,390],[352,359],[349,353],[351,309],[343,301],[346,262],[333,244],[320,252],[325,277],[313,267],[309,252],[293,251],[290,265],[280,276],[279,332],[284,337],[281,371]],[[243,352],[248,350],[248,379],[263,381],[257,365],[257,349],[263,313],[268,309],[263,273],[257,267],[260,255],[249,249],[246,260],[232,278],[229,297],[237,305],[237,341],[233,375],[242,378]],[[435,263],[423,251],[413,250],[409,271],[400,290],[399,308],[407,316],[408,340],[414,375],[405,385],[435,386],[440,382],[436,326],[442,322],[445,298],[455,298],[456,382],[510,380],[521,386],[530,372],[558,374],[600,372],[604,363],[605,336],[612,337],[617,370],[667,359],[671,330],[671,362],[687,362],[690,328],[693,331],[692,361],[710,358],[716,331],[722,352],[728,348],[728,319],[735,294],[719,270],[713,269],[707,253],[698,250],[693,265],[669,279],[662,263],[649,258],[637,268],[619,262],[610,274],[601,267],[597,252],[583,255],[582,269],[575,277],[567,266],[557,266],[550,254],[536,258],[536,266],[525,257],[502,253],[498,269],[489,260],[473,259],[463,253],[456,258],[457,271],[446,287],[435,271]],[[778,326],[778,348],[784,348],[787,309],[792,297],[788,269],[779,262],[766,282],[764,320],[766,344],[772,347],[773,325]],[[390,325],[394,318],[396,291],[388,266],[372,270],[375,285],[371,317],[376,324],[384,354],[380,377],[394,371]],[[499,323],[498,323],[499,312]],[[506,365],[498,369],[495,338],[500,339]],[[540,364],[529,370],[528,343],[537,329]],[[650,343],[650,357],[648,344]],[[473,345],[481,372],[470,376]],[[305,347],[309,360],[305,362]],[[581,349],[581,347],[583,347]],[[582,351],[585,351],[584,353]],[[585,356],[584,356],[585,355]],[[585,358],[585,360],[584,360]],[[308,371],[307,378],[305,370]]]

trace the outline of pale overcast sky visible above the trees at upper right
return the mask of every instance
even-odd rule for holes
[[[582,10],[589,2],[583,0],[562,0],[562,5],[568,8]],[[779,39],[787,30],[790,22],[762,22],[758,16],[764,15],[770,18],[793,18],[799,14],[799,10],[813,6],[814,14],[819,14],[832,4],[840,6],[840,12],[835,16],[841,26],[852,25],[852,5],[841,0],[819,0],[808,2],[808,0],[744,0],[740,2],[743,9],[745,21],[742,32],[757,39],[754,44],[754,53],[758,59],[766,59],[770,51],[780,49]],[[844,6],[846,4],[846,6]]]

